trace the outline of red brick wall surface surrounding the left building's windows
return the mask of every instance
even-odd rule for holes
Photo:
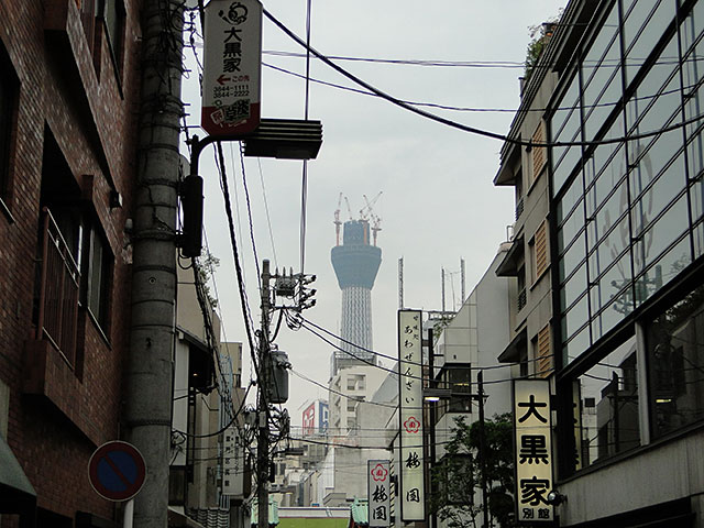
[[[76,0],[0,0],[0,45],[20,81],[11,187],[0,208],[0,381],[10,387],[7,440],[37,492],[37,506],[68,518],[77,510],[114,518],[113,505],[90,487],[87,464],[97,446],[119,438],[130,293],[123,228],[132,216],[136,157],[140,3],[124,0],[120,76],[105,31],[98,31],[91,52]],[[75,380],[65,383],[61,376],[66,372],[45,369],[45,385],[55,388],[51,394],[26,389],[29,372],[36,366],[28,351],[36,341],[35,258],[47,130],[114,254],[109,334],[81,314],[82,372],[77,376],[69,370]],[[110,208],[111,191],[122,195],[122,208]],[[47,354],[54,352],[47,348]],[[6,516],[1,526],[12,522]]]

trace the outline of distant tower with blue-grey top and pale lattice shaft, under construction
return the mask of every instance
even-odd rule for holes
[[[332,248],[332,267],[342,290],[342,341],[340,348],[350,354],[336,351],[332,356],[331,376],[348,365],[376,364],[372,350],[372,287],[382,263],[382,250],[376,246],[378,217],[369,220],[349,220],[343,224],[342,244]],[[339,223],[338,224],[339,229]],[[374,233],[371,243],[370,233]],[[339,239],[339,235],[338,235]],[[346,341],[346,342],[345,342]],[[354,343],[362,349],[349,343]],[[353,355],[351,355],[353,354]],[[355,358],[356,356],[356,358]]]

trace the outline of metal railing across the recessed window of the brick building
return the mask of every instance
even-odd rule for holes
[[[54,218],[44,208],[36,339],[48,339],[73,366],[80,272]]]

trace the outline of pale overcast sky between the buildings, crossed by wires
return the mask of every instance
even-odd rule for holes
[[[529,26],[554,16],[565,3],[565,0],[312,0],[311,46],[327,56],[522,63],[530,40]],[[264,7],[295,33],[305,36],[306,0],[267,0]],[[266,19],[263,32],[265,52],[305,52]],[[202,48],[197,52],[202,58]],[[193,58],[193,53],[187,52],[187,57]],[[304,58],[265,53],[263,62],[305,73]],[[518,67],[336,62],[398,99],[475,109],[516,109],[519,103],[518,78],[522,68]],[[184,84],[184,99],[189,105],[188,123],[198,125],[198,76],[193,61],[190,66],[194,73]],[[266,66],[262,75],[263,117],[302,119],[304,81]],[[359,88],[316,59],[311,61],[310,75],[312,79]],[[502,134],[508,131],[513,119],[509,112],[421,108]],[[459,308],[460,258],[466,262],[469,295],[506,240],[507,226],[514,217],[513,189],[492,185],[502,143],[430,121],[376,97],[315,81],[310,85],[309,116],[322,122],[323,143],[318,158],[308,164],[305,272],[318,276],[314,285],[318,293],[316,307],[305,316],[340,333],[341,292],[330,263],[330,250],[336,243],[332,221],[338,197],[343,193],[349,198],[356,218],[364,206],[363,195],[372,199],[383,191],[374,207],[382,217],[378,234],[382,266],[372,290],[374,349],[395,355],[398,258],[404,257],[407,308],[441,308],[442,267],[453,274],[446,285],[447,308]],[[191,129],[191,133],[195,131]],[[208,147],[200,165],[200,174],[206,179],[208,248],[220,258],[216,288],[224,337],[229,341],[246,342],[213,153],[215,148]],[[238,241],[250,308],[258,327],[256,270],[239,145],[224,144],[224,153],[232,200],[239,204]],[[300,271],[301,167],[301,162],[245,160],[258,258],[270,258],[272,267],[293,266],[295,272]],[[343,204],[341,219],[348,218]],[[288,353],[295,371],[327,385],[330,345],[306,330],[294,332],[286,327],[276,342]],[[244,355],[249,355],[246,346]],[[388,361],[385,364],[391,366]],[[246,362],[243,383],[250,374]],[[327,392],[295,375],[290,376],[290,387],[287,407],[293,424],[300,425],[301,406],[307,400],[327,397]]]

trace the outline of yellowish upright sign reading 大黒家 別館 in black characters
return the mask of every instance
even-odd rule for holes
[[[514,382],[514,424],[517,519],[552,521],[553,508],[548,504],[548,494],[552,491],[550,382]]]

